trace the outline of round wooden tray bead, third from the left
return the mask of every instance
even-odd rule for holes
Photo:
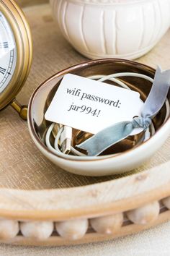
[[[55,229],[65,239],[81,239],[88,229],[88,221],[84,219],[56,222]]]

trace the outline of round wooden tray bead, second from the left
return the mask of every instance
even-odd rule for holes
[[[20,224],[23,236],[37,240],[48,239],[53,233],[53,229],[53,222],[48,221],[31,221]]]

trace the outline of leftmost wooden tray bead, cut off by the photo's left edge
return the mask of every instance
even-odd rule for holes
[[[12,239],[19,232],[18,221],[0,220],[0,239]]]

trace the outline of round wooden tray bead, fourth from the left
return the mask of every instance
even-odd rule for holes
[[[117,213],[110,216],[91,218],[90,223],[97,233],[114,234],[122,226],[123,214]]]

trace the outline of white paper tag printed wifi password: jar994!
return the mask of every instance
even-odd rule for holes
[[[142,107],[138,92],[66,74],[45,119],[96,134],[112,124],[140,116]],[[141,130],[135,129],[133,134]]]

